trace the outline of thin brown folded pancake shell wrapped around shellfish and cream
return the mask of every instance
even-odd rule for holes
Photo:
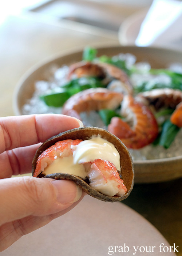
[[[127,188],[127,192],[123,196],[106,196],[102,193],[96,191],[96,189],[92,188],[89,185],[89,182],[84,181],[82,178],[75,176],[73,174],[68,173],[54,173],[54,174],[48,174],[44,176],[43,178],[54,178],[56,180],[59,179],[66,179],[66,180],[72,180],[75,181],[77,185],[82,187],[82,189],[88,193],[90,196],[93,196],[99,200],[105,201],[105,202],[117,202],[122,201],[123,199],[127,198],[128,195],[130,195],[130,192],[133,188],[134,183],[134,169],[133,169],[133,162],[130,153],[128,152],[128,149],[124,144],[112,133],[106,131],[105,129],[97,128],[97,127],[79,127],[75,129],[68,130],[66,132],[59,133],[58,135],[55,135],[51,137],[50,139],[46,140],[36,151],[35,157],[32,161],[32,176],[35,172],[36,168],[36,162],[37,158],[43,151],[45,151],[50,146],[54,145],[56,142],[60,140],[66,140],[66,139],[82,139],[82,140],[88,140],[92,137],[92,135],[100,135],[101,138],[106,139],[108,142],[112,143],[115,148],[118,150],[120,155],[120,166],[121,166],[121,178],[123,180],[124,185]]]

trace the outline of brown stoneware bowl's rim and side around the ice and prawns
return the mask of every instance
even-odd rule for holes
[[[165,68],[171,63],[182,63],[182,52],[160,48],[145,48],[137,46],[109,46],[98,48],[98,56],[113,56],[118,53],[131,53],[137,61],[147,61],[153,68]],[[52,65],[61,67],[70,65],[82,59],[82,50],[53,57],[33,67],[24,75],[16,86],[13,108],[16,115],[21,115],[22,107],[31,98],[34,83],[45,79]],[[157,160],[134,161],[135,183],[150,183],[174,180],[182,177],[182,156]]]

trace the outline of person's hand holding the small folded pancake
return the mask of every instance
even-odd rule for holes
[[[73,181],[12,175],[30,173],[40,142],[83,124],[69,116],[40,114],[0,118],[0,251],[83,198]]]

